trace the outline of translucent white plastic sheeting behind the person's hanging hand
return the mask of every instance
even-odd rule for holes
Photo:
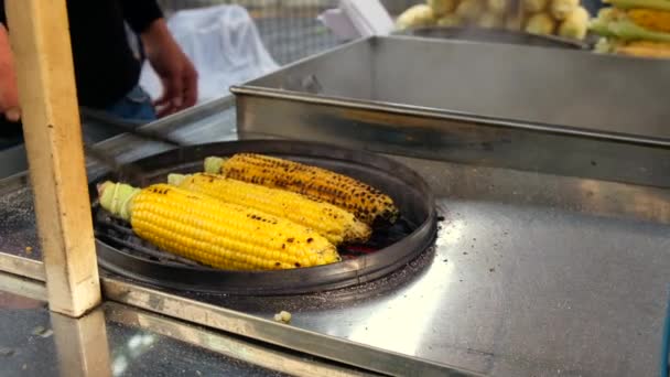
[[[279,67],[242,7],[179,11],[168,20],[168,28],[197,69],[198,103],[226,96],[230,94],[231,85]],[[153,99],[163,93],[162,84],[148,62],[142,67],[140,85]]]

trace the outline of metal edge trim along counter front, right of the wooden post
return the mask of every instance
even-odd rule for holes
[[[102,278],[108,300],[392,376],[479,376],[474,371],[292,327],[170,293]]]

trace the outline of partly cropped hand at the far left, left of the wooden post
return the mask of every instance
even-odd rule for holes
[[[21,119],[14,57],[7,29],[2,24],[0,24],[0,112],[10,121]]]

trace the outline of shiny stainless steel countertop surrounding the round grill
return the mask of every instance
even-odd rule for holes
[[[191,142],[235,139],[229,105],[155,127],[175,127],[174,136]],[[121,137],[100,148],[128,161],[166,147]],[[444,217],[434,249],[406,269],[304,297],[169,293],[266,320],[289,310],[295,328],[487,375],[658,373],[670,269],[668,190],[397,159],[429,182]],[[99,169],[89,166],[91,174]],[[2,181],[0,193],[0,250],[39,258],[30,191],[14,177]],[[129,300],[149,311],[173,309],[136,299]]]

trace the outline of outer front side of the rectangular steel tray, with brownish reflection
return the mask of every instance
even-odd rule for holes
[[[241,139],[311,140],[379,153],[670,187],[670,148],[637,137],[617,140],[551,127],[439,118],[425,111],[398,114],[329,99],[306,104],[284,94],[244,90],[237,99]]]

